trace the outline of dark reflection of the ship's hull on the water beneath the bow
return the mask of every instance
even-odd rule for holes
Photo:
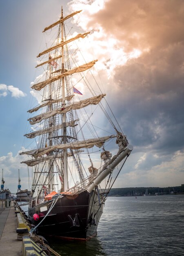
[[[53,239],[49,239],[48,242],[52,245],[52,249],[62,256],[107,256],[104,252],[102,241],[98,237],[80,242]]]

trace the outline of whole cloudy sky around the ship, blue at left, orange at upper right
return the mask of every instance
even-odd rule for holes
[[[0,177],[16,192],[27,167],[19,152],[27,132],[42,30],[81,10],[73,21],[91,31],[107,99],[134,150],[114,187],[184,183],[184,1],[0,1]],[[86,53],[87,54],[87,53]],[[87,56],[87,55],[86,55]],[[36,103],[35,103],[36,105]]]

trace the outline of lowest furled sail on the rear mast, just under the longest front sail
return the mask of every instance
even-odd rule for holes
[[[73,154],[81,153],[83,151],[84,150],[73,151],[73,153],[67,153],[67,156],[71,157],[71,156],[73,156]],[[62,158],[62,157],[63,157],[62,154],[49,155],[47,157],[38,157],[36,159],[30,159],[30,160],[27,160],[27,161],[22,161],[22,162],[20,162],[20,164],[27,164],[27,166],[35,166],[36,164],[40,164],[40,163],[48,161],[48,160],[52,160],[52,159],[56,159],[56,158]]]

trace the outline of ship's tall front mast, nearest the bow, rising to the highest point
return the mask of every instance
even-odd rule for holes
[[[63,19],[63,9],[61,7],[61,19]],[[64,22],[61,22],[61,41],[64,42]],[[64,46],[62,46],[62,74],[64,74]],[[64,88],[64,76],[62,77],[62,98],[63,106],[65,106],[65,88]],[[66,127],[66,113],[62,116],[63,124],[63,144],[67,143],[67,127]],[[67,149],[63,150],[63,173],[64,173],[64,191],[68,189],[68,171],[67,171]]]

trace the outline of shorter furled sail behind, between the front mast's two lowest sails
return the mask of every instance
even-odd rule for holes
[[[67,122],[66,123],[66,127],[68,127],[68,126],[70,126],[70,127],[77,126],[77,124],[75,124],[76,121],[79,121],[79,119]],[[38,131],[27,133],[24,136],[26,136],[29,139],[33,139],[36,136],[39,136],[39,135],[42,135],[42,134],[46,134],[47,132],[53,132],[55,130],[59,130],[59,129],[62,129],[62,128],[63,128],[63,125],[59,124],[57,126],[51,126],[49,128],[46,128],[46,129],[42,129],[42,130],[38,130]]]

